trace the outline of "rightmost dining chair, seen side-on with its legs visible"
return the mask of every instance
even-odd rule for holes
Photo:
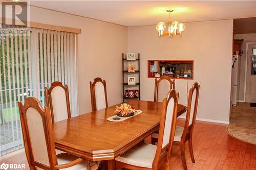
[[[176,127],[174,143],[180,145],[181,159],[183,168],[186,170],[186,158],[185,158],[185,142],[188,141],[188,148],[190,158],[195,163],[193,145],[192,145],[192,134],[196,122],[198,96],[199,96],[200,85],[194,83],[188,94],[188,105],[184,127]]]

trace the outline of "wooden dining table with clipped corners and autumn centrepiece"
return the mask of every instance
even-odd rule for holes
[[[114,169],[114,159],[159,129],[162,103],[131,101],[142,113],[122,122],[110,122],[116,106],[82,114],[53,124],[55,147],[91,161],[104,161]],[[177,117],[186,112],[178,105]],[[106,168],[106,167],[105,167]]]

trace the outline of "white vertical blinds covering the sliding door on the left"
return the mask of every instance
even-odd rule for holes
[[[44,88],[52,82],[69,86],[71,113],[77,115],[76,39],[75,33],[44,29],[1,35],[1,155],[23,147],[17,102],[34,96],[45,106]]]

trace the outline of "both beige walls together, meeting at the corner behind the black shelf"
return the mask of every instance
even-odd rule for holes
[[[154,79],[147,78],[147,59],[195,60],[201,85],[198,118],[228,122],[232,20],[186,23],[184,37],[158,38],[155,26],[114,25],[84,17],[31,8],[31,21],[80,28],[78,35],[79,113],[91,110],[89,82],[107,82],[109,105],[121,102],[121,53],[141,54],[141,98],[153,100]],[[84,73],[86,76],[84,76]],[[194,81],[188,81],[190,87]],[[186,81],[178,80],[180,103],[186,104]],[[149,92],[152,91],[152,92]]]

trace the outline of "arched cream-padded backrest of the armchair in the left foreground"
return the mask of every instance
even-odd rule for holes
[[[18,102],[25,152],[30,169],[54,169],[57,165],[51,115],[48,107],[43,109],[33,97]]]

